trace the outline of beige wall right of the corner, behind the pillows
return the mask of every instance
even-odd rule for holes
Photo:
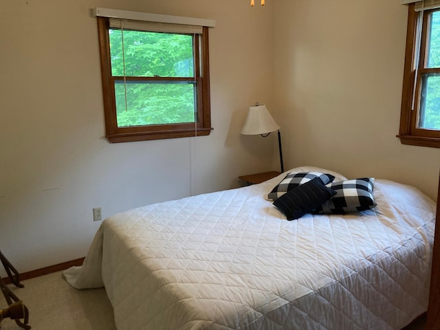
[[[407,7],[399,0],[274,1],[274,111],[287,167],[312,164],[437,195],[440,149],[399,131]]]

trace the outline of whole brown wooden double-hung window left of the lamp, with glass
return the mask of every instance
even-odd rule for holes
[[[97,19],[109,142],[209,135],[208,28]]]

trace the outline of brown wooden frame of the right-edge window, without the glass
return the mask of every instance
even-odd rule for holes
[[[431,12],[438,10],[439,9],[426,10],[423,12],[420,51],[419,54],[417,54],[417,24],[419,21],[419,12],[415,11],[414,3],[408,5],[404,83],[401,101],[399,135],[397,135],[402,144],[440,148],[440,131],[421,129],[417,127],[417,121],[419,120],[418,115],[420,108],[422,75],[429,73],[440,73],[440,68],[426,67],[426,34],[428,31],[429,15]],[[417,58],[419,61],[418,63],[415,63]],[[416,78],[417,81],[415,81]],[[412,109],[413,103],[414,109]]]

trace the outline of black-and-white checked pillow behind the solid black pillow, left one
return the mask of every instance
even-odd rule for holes
[[[267,199],[270,201],[275,201],[277,198],[283,196],[287,191],[292,190],[300,186],[301,184],[305,184],[311,179],[315,179],[318,177],[322,184],[328,184],[333,181],[335,177],[328,173],[320,173],[320,172],[300,172],[300,173],[289,173],[286,177],[277,184],[269,195],[267,195]]]

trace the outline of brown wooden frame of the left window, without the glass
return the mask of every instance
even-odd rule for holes
[[[155,124],[146,126],[118,127],[114,81],[121,77],[111,75],[109,19],[97,17],[100,45],[102,94],[106,137],[109,142],[132,142],[143,140],[170,139],[176,137],[206,136],[210,134],[210,79],[208,28],[195,36],[195,85],[197,86],[197,121],[181,124]],[[173,80],[163,77],[125,77],[126,80]],[[179,78],[175,78],[179,80]],[[188,80],[188,79],[186,79]]]

